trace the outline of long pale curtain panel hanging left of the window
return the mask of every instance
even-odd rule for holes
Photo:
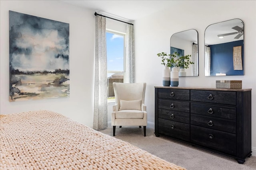
[[[106,18],[96,16],[93,129],[108,127]]]

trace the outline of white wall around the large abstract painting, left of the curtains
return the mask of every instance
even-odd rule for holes
[[[92,126],[95,16],[60,1],[0,1],[0,113],[47,109]],[[9,13],[12,10],[70,25],[70,98],[9,102]]]

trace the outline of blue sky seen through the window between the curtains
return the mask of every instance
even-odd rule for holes
[[[108,70],[124,71],[124,36],[106,32],[106,43]]]

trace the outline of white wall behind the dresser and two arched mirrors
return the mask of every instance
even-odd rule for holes
[[[204,30],[212,23],[244,21],[244,76],[204,76]],[[147,82],[148,121],[154,122],[154,86],[162,86],[162,65],[157,53],[170,51],[172,34],[198,31],[199,76],[181,77],[179,86],[215,87],[216,80],[242,80],[252,88],[252,149],[256,156],[256,1],[175,1],[173,6],[134,22],[136,82]]]

